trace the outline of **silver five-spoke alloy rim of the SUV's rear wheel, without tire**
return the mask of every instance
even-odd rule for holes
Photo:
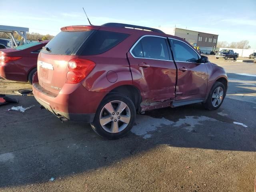
[[[110,101],[100,111],[100,125],[109,133],[121,132],[128,126],[130,119],[130,108],[123,101]]]

